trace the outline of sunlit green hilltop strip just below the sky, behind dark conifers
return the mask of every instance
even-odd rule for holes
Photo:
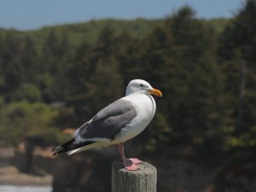
[[[154,27],[161,26],[165,20],[91,20],[86,23],[77,23],[61,26],[47,26],[42,29],[34,31],[19,32],[16,30],[4,30],[0,29],[0,38],[10,34],[12,37],[26,39],[31,38],[35,43],[35,48],[40,52],[44,47],[44,42],[50,32],[55,32],[56,37],[60,38],[66,34],[70,39],[70,44],[77,47],[84,41],[95,44],[102,29],[110,26],[118,34],[129,32],[133,38],[144,38],[150,32],[154,30]],[[212,27],[216,32],[222,32],[224,26],[227,25],[229,20],[216,19],[216,20],[204,20],[205,25]]]

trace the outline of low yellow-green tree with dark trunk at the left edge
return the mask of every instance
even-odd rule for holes
[[[45,147],[60,141],[61,134],[53,125],[58,115],[55,108],[39,102],[12,102],[0,104],[0,141],[2,146],[26,146],[24,172],[31,172],[32,151],[35,146]]]

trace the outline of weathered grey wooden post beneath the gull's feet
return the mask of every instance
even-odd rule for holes
[[[156,192],[156,168],[147,162],[137,171],[127,171],[121,161],[112,164],[112,192]]]

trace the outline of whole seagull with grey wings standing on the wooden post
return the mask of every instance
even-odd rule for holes
[[[147,81],[131,80],[124,97],[102,108],[96,116],[81,125],[72,139],[53,148],[53,155],[65,152],[70,155],[116,144],[125,169],[137,170],[141,161],[125,158],[124,143],[141,133],[153,119],[156,105],[152,94],[162,96],[161,91],[154,89]]]

